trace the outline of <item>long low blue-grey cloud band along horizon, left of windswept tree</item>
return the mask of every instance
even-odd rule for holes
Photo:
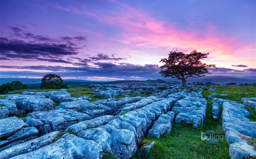
[[[139,76],[147,79],[160,78],[158,65],[134,65],[129,63],[112,64],[112,63],[97,63],[97,67],[63,67],[63,66],[1,66],[2,68],[16,68],[29,70],[48,70],[59,73],[66,73],[65,76],[106,76],[106,77],[131,77]],[[58,74],[57,73],[57,74]]]

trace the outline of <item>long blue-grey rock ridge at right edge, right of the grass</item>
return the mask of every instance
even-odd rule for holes
[[[250,122],[246,117],[249,112],[243,104],[224,102],[222,104],[222,129],[229,145],[231,158],[242,159],[249,155],[256,156],[253,146],[246,138],[256,138],[256,123]]]

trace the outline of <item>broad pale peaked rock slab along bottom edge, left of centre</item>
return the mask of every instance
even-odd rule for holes
[[[27,154],[15,156],[12,159],[38,158],[38,156],[40,156],[41,159],[101,159],[102,147],[92,140],[84,140],[75,135],[68,135],[50,145],[41,147]]]

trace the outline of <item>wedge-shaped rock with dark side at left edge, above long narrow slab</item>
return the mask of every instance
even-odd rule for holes
[[[0,141],[0,147],[13,143],[15,141],[23,140],[31,136],[37,136],[38,130],[35,127],[21,128],[18,132],[5,140]]]

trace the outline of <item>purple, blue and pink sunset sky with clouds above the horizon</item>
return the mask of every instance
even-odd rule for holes
[[[163,79],[175,49],[256,76],[256,1],[0,0],[0,78]]]

